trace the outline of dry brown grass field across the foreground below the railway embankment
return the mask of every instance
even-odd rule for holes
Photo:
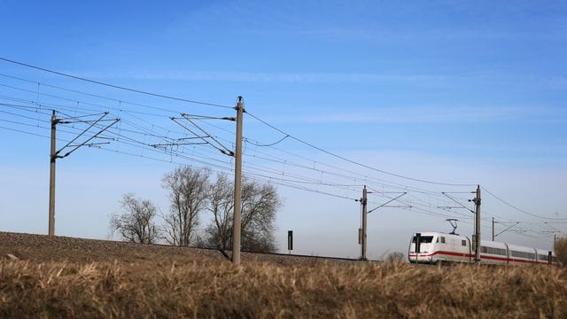
[[[0,317],[567,317],[556,267],[0,261]]]

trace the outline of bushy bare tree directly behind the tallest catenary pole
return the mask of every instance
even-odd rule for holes
[[[206,235],[209,245],[221,249],[232,246],[233,191],[233,183],[226,175],[218,175],[211,186],[208,210],[213,213],[213,222],[208,225]],[[276,251],[273,232],[279,206],[274,186],[243,181],[241,246],[244,250]]]

